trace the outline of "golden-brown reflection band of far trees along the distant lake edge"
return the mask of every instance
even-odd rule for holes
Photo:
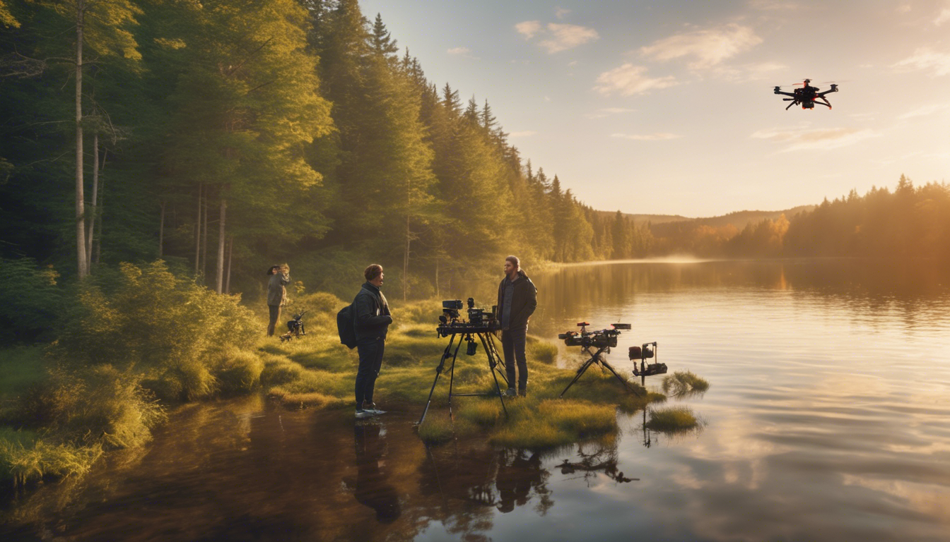
[[[532,276],[539,311],[531,323],[535,333],[550,335],[599,309],[630,308],[638,294],[750,287],[819,292],[857,309],[893,305],[912,312],[920,310],[914,302],[945,295],[947,278],[946,269],[933,266],[845,258],[568,266]]]

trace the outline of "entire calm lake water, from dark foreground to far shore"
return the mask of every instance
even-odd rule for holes
[[[7,535],[950,539],[945,276],[802,261],[623,263],[533,278],[533,333],[630,322],[611,364],[627,372],[626,346],[658,341],[671,371],[712,384],[671,401],[704,429],[666,436],[645,431],[642,413],[621,414],[609,444],[427,449],[411,428],[415,405],[358,424],[349,411],[290,412],[259,399],[191,405],[146,454],[110,458],[70,504]],[[34,500],[52,506],[52,490]]]

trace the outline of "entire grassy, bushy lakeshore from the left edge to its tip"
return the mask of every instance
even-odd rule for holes
[[[308,332],[280,342],[264,337],[263,308],[199,288],[161,262],[123,265],[96,280],[74,293],[57,341],[7,349],[0,358],[0,485],[22,490],[82,476],[104,452],[147,442],[166,409],[182,402],[263,393],[287,408],[352,417],[357,352],[339,344],[335,319],[347,302],[324,292],[295,295],[282,320],[306,308]],[[396,303],[392,310],[374,399],[383,408],[421,413],[447,345],[435,332],[441,304]],[[528,395],[505,400],[507,417],[497,398],[460,397],[449,418],[449,377],[457,393],[495,389],[483,346],[475,356],[463,346],[454,374],[440,378],[420,438],[485,435],[498,445],[531,448],[611,439],[618,409],[634,412],[666,399],[636,382],[628,383],[636,392],[628,391],[599,365],[559,399],[580,360],[560,368],[558,347],[536,337],[528,337],[527,358]],[[668,389],[697,390],[704,382],[689,373]]]

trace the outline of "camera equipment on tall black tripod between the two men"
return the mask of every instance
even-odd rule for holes
[[[436,334],[439,337],[448,337],[448,346],[442,352],[442,358],[439,360],[439,365],[435,367],[435,380],[432,382],[432,389],[428,392],[428,401],[426,402],[426,408],[422,411],[422,416],[419,418],[419,421],[416,422],[416,425],[421,425],[423,421],[426,420],[426,413],[428,413],[428,406],[432,402],[432,393],[435,392],[435,384],[439,382],[439,376],[442,375],[442,372],[446,368],[446,362],[451,358],[451,364],[448,367],[448,415],[452,416],[452,396],[455,397],[474,397],[474,396],[488,396],[488,397],[498,397],[498,400],[502,402],[502,410],[504,411],[504,417],[508,417],[508,410],[504,406],[504,394],[502,393],[502,386],[498,383],[498,378],[501,377],[502,381],[507,387],[507,379],[504,376],[504,372],[499,368],[501,364],[501,356],[498,354],[498,348],[495,346],[495,335],[494,332],[498,329],[501,329],[501,324],[496,319],[498,313],[498,306],[493,306],[491,310],[486,310],[485,308],[475,308],[475,300],[471,297],[467,299],[467,316],[468,319],[465,320],[462,318],[462,300],[453,299],[449,301],[442,302],[442,315],[439,316],[439,325],[435,328]],[[455,340],[458,338],[458,343],[456,344]],[[459,348],[462,347],[462,343],[466,343],[466,355],[474,356],[478,351],[478,344],[482,343],[482,347],[485,349],[485,355],[488,358],[488,370],[491,372],[491,376],[495,379],[495,392],[491,393],[453,393],[452,386],[455,380],[455,360],[459,355]],[[452,349],[452,346],[455,346]]]

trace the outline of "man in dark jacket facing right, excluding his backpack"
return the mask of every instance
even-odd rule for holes
[[[372,402],[372,390],[383,365],[386,332],[392,324],[390,305],[379,289],[383,286],[383,267],[372,264],[363,271],[366,283],[353,299],[356,350],[359,369],[356,371],[356,418],[364,419],[383,414]]]

